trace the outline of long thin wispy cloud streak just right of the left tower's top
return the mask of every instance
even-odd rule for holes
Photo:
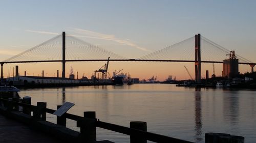
[[[102,34],[102,33],[93,32],[93,31],[89,31],[89,30],[83,30],[81,28],[71,28],[71,31],[74,32],[74,33],[77,33],[77,34],[81,34],[81,35],[73,35],[73,36],[76,36],[76,37],[86,37],[86,38],[94,38],[94,39],[111,40],[111,41],[117,42],[119,44],[128,45],[128,46],[131,46],[131,47],[143,50],[143,51],[151,51],[151,50],[143,48],[143,47],[141,47],[137,44],[134,44],[129,39],[116,38],[115,35]]]

